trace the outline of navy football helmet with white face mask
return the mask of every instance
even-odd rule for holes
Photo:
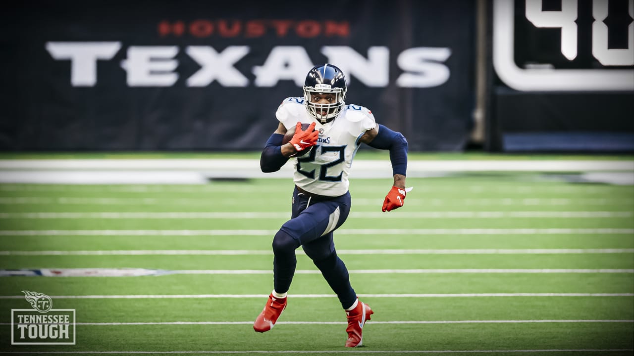
[[[316,65],[308,72],[304,82],[304,105],[311,117],[325,124],[337,117],[344,108],[346,99],[346,77],[341,70],[332,64]],[[334,94],[332,103],[311,103],[313,94]]]

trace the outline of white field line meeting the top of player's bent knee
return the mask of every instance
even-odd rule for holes
[[[271,236],[277,230],[0,230],[0,236]],[[340,229],[339,235],[614,235],[634,229]]]

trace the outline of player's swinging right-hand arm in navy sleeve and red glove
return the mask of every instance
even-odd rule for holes
[[[373,129],[367,130],[359,141],[373,148],[389,149],[394,186],[385,196],[382,210],[389,212],[402,207],[406,193],[407,140],[401,132],[392,131],[384,125],[377,125]]]

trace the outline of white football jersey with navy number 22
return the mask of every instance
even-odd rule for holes
[[[315,122],[315,130],[319,131],[316,146],[306,155],[294,158],[295,184],[313,194],[346,194],[359,138],[377,125],[372,111],[363,106],[344,105],[334,120],[321,124],[308,115],[304,98],[287,98],[275,115],[287,130],[295,130],[299,121],[302,124]]]

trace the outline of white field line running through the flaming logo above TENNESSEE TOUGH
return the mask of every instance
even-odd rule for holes
[[[206,299],[266,298],[265,294],[195,294],[195,295],[50,295],[55,299]],[[333,294],[292,294],[292,298],[337,298]],[[406,293],[358,294],[363,298],[491,298],[491,297],[621,297],[634,293]],[[0,295],[0,299],[23,299],[23,295]]]

